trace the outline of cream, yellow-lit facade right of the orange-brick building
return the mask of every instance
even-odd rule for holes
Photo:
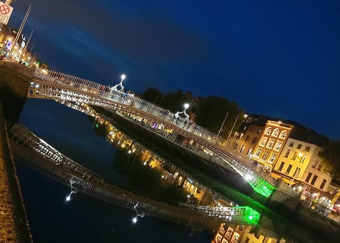
[[[321,149],[315,144],[289,138],[273,165],[273,172],[289,178],[292,184],[299,182],[304,189],[327,192],[332,178],[322,171]]]

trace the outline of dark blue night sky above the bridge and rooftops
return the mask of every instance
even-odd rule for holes
[[[24,34],[51,69],[111,85],[125,72],[136,92],[223,96],[340,139],[339,13],[340,1],[32,0]]]

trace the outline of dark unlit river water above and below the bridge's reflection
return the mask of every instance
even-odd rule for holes
[[[76,162],[118,185],[126,177],[114,170],[118,149],[97,136],[84,113],[50,100],[28,99],[19,122]],[[68,242],[210,242],[205,231],[145,216],[82,193],[66,203],[70,188],[17,163],[23,199],[36,243]]]

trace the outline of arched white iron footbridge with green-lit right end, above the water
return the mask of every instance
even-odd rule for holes
[[[163,107],[126,94],[115,87],[105,87],[99,83],[55,71],[48,71],[48,74],[37,72],[29,88],[28,97],[92,104],[164,124],[165,127],[211,150],[215,156],[237,171],[254,191],[269,197],[275,188],[275,180],[259,167],[228,152],[222,145],[226,144],[225,139],[218,138],[216,134],[204,127]]]

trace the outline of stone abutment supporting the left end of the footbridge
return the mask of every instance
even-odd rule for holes
[[[0,101],[8,129],[17,123],[34,71],[16,62],[0,61]]]

